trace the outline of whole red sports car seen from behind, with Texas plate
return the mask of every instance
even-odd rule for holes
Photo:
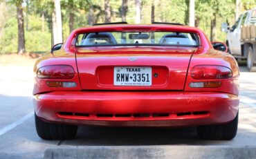
[[[237,133],[237,62],[199,28],[79,28],[34,71],[35,125],[46,140],[75,138],[78,125],[196,126],[209,140]]]

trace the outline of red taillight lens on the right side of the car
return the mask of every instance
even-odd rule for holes
[[[232,77],[232,71],[225,66],[200,65],[192,68],[194,79],[226,79]]]

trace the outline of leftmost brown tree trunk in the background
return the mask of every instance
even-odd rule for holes
[[[16,2],[17,7],[17,21],[18,21],[18,54],[26,52],[25,48],[25,33],[24,33],[24,17],[21,6],[22,1]]]

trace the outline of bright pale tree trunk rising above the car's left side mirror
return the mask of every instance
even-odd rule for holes
[[[55,0],[55,11],[53,12],[53,44],[62,42],[62,12],[60,9],[60,0]]]

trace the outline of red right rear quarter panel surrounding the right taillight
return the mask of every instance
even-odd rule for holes
[[[226,66],[231,69],[232,77],[229,79],[193,79],[191,71],[197,65],[219,65]],[[219,88],[190,88],[190,82],[206,82],[206,81],[221,81]],[[223,92],[234,95],[239,95],[239,66],[234,57],[228,53],[223,53],[218,50],[210,48],[205,53],[194,53],[190,60],[190,67],[188,69],[188,76],[185,83],[185,91],[212,91]]]

